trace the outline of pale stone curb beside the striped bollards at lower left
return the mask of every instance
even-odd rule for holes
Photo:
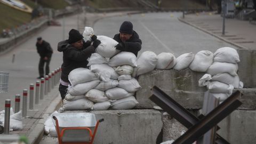
[[[60,94],[51,101],[51,105],[46,108],[46,110],[41,114],[43,119],[40,119],[36,126],[34,127],[33,131],[31,131],[28,135],[29,143],[39,143],[44,135],[44,123],[46,119],[49,117],[51,113],[61,104],[61,97]]]

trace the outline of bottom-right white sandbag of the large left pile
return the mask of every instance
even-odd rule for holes
[[[133,97],[128,97],[124,99],[119,99],[114,102],[111,102],[112,109],[132,109],[135,107],[139,102]]]

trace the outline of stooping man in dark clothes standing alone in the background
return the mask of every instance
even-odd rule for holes
[[[42,37],[37,38],[36,49],[38,54],[40,55],[40,60],[38,64],[39,77],[37,78],[42,78],[44,77],[44,63],[46,63],[45,75],[48,75],[50,72],[49,65],[50,65],[53,51],[52,51],[51,45],[46,41],[44,41]]]

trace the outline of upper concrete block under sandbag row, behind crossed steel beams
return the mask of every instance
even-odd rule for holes
[[[150,89],[154,85],[185,108],[201,108],[206,87],[199,87],[198,80],[204,74],[187,68],[180,71],[174,69],[153,70],[150,73],[140,75],[138,82],[141,89],[136,92],[136,98],[139,102],[138,108],[156,106],[148,99],[152,94]]]

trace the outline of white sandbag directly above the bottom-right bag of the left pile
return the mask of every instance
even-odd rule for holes
[[[120,87],[114,87],[112,89],[108,89],[106,92],[106,96],[111,100],[118,100],[127,97],[131,97],[133,93],[129,93]]]

